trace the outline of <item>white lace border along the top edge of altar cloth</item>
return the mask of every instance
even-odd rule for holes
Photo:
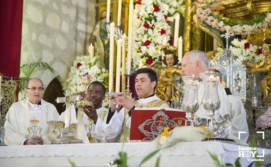
[[[95,143],[95,144],[69,144],[69,145],[19,145],[0,147],[0,158],[18,158],[18,157],[111,157],[118,156],[119,151],[127,152],[128,157],[146,156],[154,150],[148,147],[148,142],[142,143]],[[171,147],[163,148],[158,155],[162,156],[181,156],[181,155],[209,155],[213,152],[216,155],[222,155],[225,148],[238,149],[238,145],[223,142],[184,142]],[[231,150],[232,150],[231,149]],[[227,158],[238,154],[230,151]],[[271,153],[271,151],[270,151]],[[157,156],[158,156],[157,155]],[[224,154],[225,155],[225,154]],[[238,157],[238,155],[237,155]]]

